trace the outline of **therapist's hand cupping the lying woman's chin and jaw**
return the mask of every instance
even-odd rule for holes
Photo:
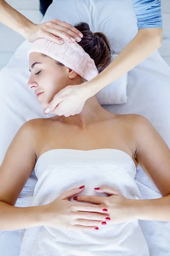
[[[91,90],[87,82],[78,85],[68,85],[54,96],[43,114],[56,114],[58,116],[74,116],[82,112],[85,101],[90,98]]]

